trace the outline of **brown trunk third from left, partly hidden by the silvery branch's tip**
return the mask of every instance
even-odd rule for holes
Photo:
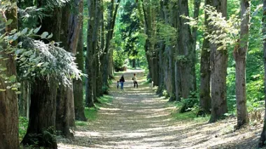
[[[62,34],[60,40],[62,47],[67,52],[76,54],[78,46],[78,36],[80,33],[80,10],[83,10],[82,0],[73,0],[62,8]],[[58,89],[57,93],[57,123],[56,127],[62,135],[73,137],[69,127],[75,126],[75,112],[73,101],[73,86],[72,82],[69,86],[63,86]]]

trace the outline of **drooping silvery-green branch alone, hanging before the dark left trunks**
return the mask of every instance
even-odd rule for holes
[[[64,84],[71,84],[71,78],[81,79],[83,73],[78,70],[71,53],[56,47],[54,42],[45,44],[31,38],[23,38],[23,41],[24,50],[15,51],[23,77],[55,75]]]

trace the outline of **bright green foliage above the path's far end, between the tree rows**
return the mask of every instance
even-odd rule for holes
[[[132,0],[122,1],[113,38],[113,59],[116,70],[132,63],[133,60],[136,60],[138,67],[147,68],[144,50],[146,35],[142,32],[137,4]]]

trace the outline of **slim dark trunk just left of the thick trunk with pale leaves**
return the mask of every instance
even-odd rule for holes
[[[211,5],[212,0],[205,0],[205,6]],[[208,15],[205,12],[204,24],[208,26]],[[210,42],[204,37],[200,56],[200,108],[202,114],[211,113],[211,67],[210,67]]]

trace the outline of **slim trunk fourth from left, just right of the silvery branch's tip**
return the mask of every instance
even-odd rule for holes
[[[83,22],[82,16],[80,16],[80,22]],[[76,63],[79,70],[84,70],[84,58],[83,58],[83,25],[80,27],[80,33],[78,37],[78,48],[76,53]],[[75,119],[87,121],[84,113],[83,105],[83,81],[73,79],[73,97],[75,105]]]

